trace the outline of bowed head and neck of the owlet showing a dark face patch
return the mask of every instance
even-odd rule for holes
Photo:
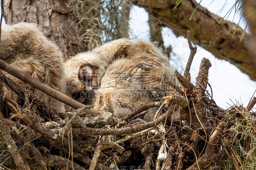
[[[92,95],[91,92],[100,87],[101,78],[104,76],[107,68],[118,58],[124,57],[126,47],[130,43],[126,39],[111,41],[99,48],[77,54],[65,61],[67,95],[77,99],[80,97],[91,99],[92,97],[88,96],[88,94]],[[76,94],[76,92],[88,93],[87,95],[83,93],[80,96],[80,93]],[[82,102],[83,100],[80,101]]]

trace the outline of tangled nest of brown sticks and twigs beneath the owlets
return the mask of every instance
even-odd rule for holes
[[[245,107],[222,110],[205,96],[197,99],[196,91],[190,90],[183,96],[165,98],[162,105],[161,102],[146,104],[122,119],[116,119],[111,113],[89,117],[86,115],[89,108],[52,112],[52,108],[34,99],[31,91],[6,77],[4,80],[3,75],[1,78],[9,82],[9,86],[13,85],[12,89],[17,89],[14,92],[25,99],[26,106],[22,108],[14,100],[11,102],[2,91],[2,168],[217,170],[255,167],[255,119]],[[187,107],[184,99],[188,101]],[[132,120],[149,107],[166,105],[169,109],[156,116],[156,120]],[[172,116],[179,105],[182,106],[181,119]],[[198,121],[200,114],[204,118]]]

